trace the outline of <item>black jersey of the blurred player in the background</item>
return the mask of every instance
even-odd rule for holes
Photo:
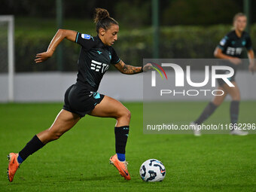
[[[251,38],[248,32],[242,32],[242,36],[239,38],[233,30],[221,39],[218,47],[221,48],[222,53],[225,55],[241,58],[243,47],[246,47],[247,50],[251,50]]]

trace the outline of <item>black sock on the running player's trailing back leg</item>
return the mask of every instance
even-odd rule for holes
[[[19,152],[19,156],[24,161],[27,157],[29,157],[29,155],[34,154],[35,151],[38,151],[38,149],[42,147],[44,147],[44,143],[42,143],[40,139],[38,139],[38,136],[35,135]]]

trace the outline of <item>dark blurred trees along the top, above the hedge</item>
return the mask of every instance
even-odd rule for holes
[[[93,18],[95,8],[105,8],[128,26],[151,25],[149,0],[62,0],[65,18]],[[162,25],[211,25],[231,23],[243,11],[243,0],[159,0]],[[15,17],[56,17],[55,0],[1,0],[0,14]],[[256,1],[251,1],[251,23],[256,22]]]

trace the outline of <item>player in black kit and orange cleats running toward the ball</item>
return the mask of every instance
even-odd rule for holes
[[[96,8],[94,22],[96,23],[96,37],[59,29],[50,41],[47,51],[35,56],[36,63],[49,59],[64,38],[81,45],[76,84],[66,90],[65,103],[52,126],[35,135],[18,154],[11,153],[8,155],[9,181],[13,181],[20,163],[23,163],[29,155],[44,147],[48,142],[59,139],[63,133],[75,126],[78,120],[86,114],[96,117],[113,117],[117,120],[114,127],[116,154],[110,158],[110,163],[118,169],[120,175],[126,180],[130,180],[125,159],[130,111],[117,100],[96,91],[110,64],[113,64],[123,74],[130,75],[143,72],[143,69],[147,70],[150,64],[143,68],[129,66],[117,56],[111,45],[114,44],[114,41],[117,41],[119,26],[117,21],[109,16],[107,10]]]

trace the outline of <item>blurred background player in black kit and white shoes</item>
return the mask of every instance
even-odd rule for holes
[[[227,66],[230,66],[234,69],[234,75],[230,78],[231,83],[234,87],[229,87],[226,82],[222,79],[218,79],[218,90],[222,90],[224,94],[222,96],[215,96],[212,102],[206,106],[203,110],[203,113],[200,117],[191,123],[195,127],[194,135],[200,136],[200,130],[197,125],[203,123],[214,111],[218,108],[219,105],[224,101],[227,94],[230,94],[232,101],[230,104],[230,121],[233,129],[230,131],[232,135],[245,136],[248,132],[244,132],[241,130],[236,130],[234,124],[237,123],[238,114],[239,114],[239,101],[240,101],[240,93],[239,88],[235,81],[235,75],[238,65],[241,61],[241,53],[242,48],[246,47],[248,53],[248,59],[250,64],[248,66],[249,71],[253,72],[254,69],[254,51],[251,47],[251,38],[247,32],[245,32],[246,27],[246,16],[245,14],[239,13],[233,17],[233,27],[234,30],[227,33],[227,35],[222,38],[218,47],[216,47],[214,55],[218,59],[227,59]],[[225,71],[221,71],[221,74],[225,74]],[[221,92],[220,92],[221,94]]]

